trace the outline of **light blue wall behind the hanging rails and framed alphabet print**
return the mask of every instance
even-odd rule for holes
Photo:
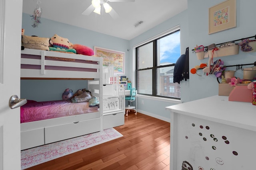
[[[188,1],[189,13],[189,46],[210,45],[212,43],[224,43],[236,39],[254,36],[256,34],[255,0],[236,0],[236,27],[208,35],[208,8],[223,2],[223,0],[201,0]],[[246,2],[246,3],[245,3]],[[199,5],[200,4],[200,5]],[[239,42],[239,41],[238,41]],[[244,53],[239,51],[238,55],[221,58],[225,65],[247,64],[256,61],[256,53]],[[190,52],[190,68],[207,63],[208,59],[199,61],[195,53]],[[244,66],[246,67],[246,66]],[[250,67],[250,66],[247,66]],[[228,67],[227,70],[235,70],[235,67]],[[243,77],[242,71],[238,70],[235,76]],[[190,75],[190,100],[196,100],[218,94],[218,82],[215,76]]]

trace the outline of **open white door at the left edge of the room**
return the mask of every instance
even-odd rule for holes
[[[0,0],[0,170],[20,169],[20,107],[9,99],[20,96],[21,25],[22,0]]]

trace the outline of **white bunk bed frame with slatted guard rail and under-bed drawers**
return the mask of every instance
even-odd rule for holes
[[[21,79],[87,79],[88,90],[92,92],[103,104],[102,93],[102,57],[92,57],[85,55],[76,55],[70,53],[60,53],[54,51],[42,51],[36,49],[25,49],[21,51],[22,55],[39,55],[41,59],[21,59],[21,64],[40,65],[40,70],[21,69]],[[45,57],[61,57],[66,59],[79,59],[86,61],[96,61],[98,64],[74,63],[68,61],[50,61]],[[45,66],[68,66],[80,68],[96,68],[97,72],[84,71],[63,71],[63,70],[45,70]],[[90,86],[89,86],[90,84]],[[72,115],[68,117],[59,117],[40,121],[21,123],[21,150],[61,141],[89,133],[103,130],[103,110],[94,113],[82,115]]]

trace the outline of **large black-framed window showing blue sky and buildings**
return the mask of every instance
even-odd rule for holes
[[[136,47],[138,94],[180,99],[180,84],[173,83],[174,66],[179,57],[179,28]]]

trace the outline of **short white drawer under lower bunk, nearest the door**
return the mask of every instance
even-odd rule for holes
[[[21,150],[44,145],[44,128],[20,132]]]

